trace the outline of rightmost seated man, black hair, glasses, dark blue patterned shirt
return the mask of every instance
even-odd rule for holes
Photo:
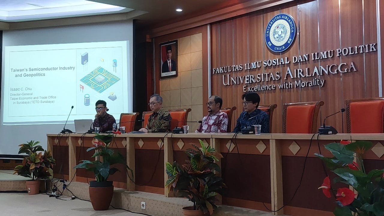
[[[261,132],[269,133],[269,116],[263,110],[257,109],[260,96],[256,92],[247,92],[241,98],[244,111],[238,117],[233,133],[241,132],[242,128],[252,125],[262,125]]]

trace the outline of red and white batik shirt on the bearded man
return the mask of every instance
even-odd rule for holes
[[[205,115],[195,133],[225,133],[227,132],[227,126],[228,115],[219,110],[214,114]]]

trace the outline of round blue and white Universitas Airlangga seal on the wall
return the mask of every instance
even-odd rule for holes
[[[266,46],[273,52],[288,49],[296,36],[296,24],[291,15],[279,13],[272,17],[265,28]]]

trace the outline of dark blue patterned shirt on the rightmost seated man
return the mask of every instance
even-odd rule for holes
[[[251,127],[252,125],[262,125],[261,132],[269,133],[269,115],[260,109],[255,109],[250,114],[244,111],[240,113],[232,133],[241,132],[242,128]]]

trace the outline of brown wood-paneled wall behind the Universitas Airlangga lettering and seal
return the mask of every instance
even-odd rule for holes
[[[381,86],[381,73],[378,71],[377,45],[377,15],[376,0],[315,0],[295,1],[266,8],[261,11],[248,13],[210,24],[211,34],[211,90],[223,98],[223,106],[237,106],[233,114],[235,121],[242,111],[241,95],[243,86],[253,87],[260,84],[276,85],[275,90],[257,91],[261,96],[260,104],[277,104],[273,115],[272,132],[281,133],[283,129],[283,104],[294,102],[324,101],[320,109],[319,119],[330,115],[345,107],[345,100],[367,97],[379,97]],[[278,13],[287,13],[293,17],[297,27],[295,41],[283,53],[273,53],[265,45],[264,33],[270,19]],[[376,43],[372,52],[336,56],[337,49]],[[332,58],[312,60],[312,53],[333,50]],[[371,51],[370,46],[368,50]],[[348,51],[349,52],[349,51]],[[293,56],[299,57],[308,54],[308,61],[293,63]],[[268,59],[285,59],[290,63],[277,66],[263,66]],[[261,61],[257,69],[244,69],[245,63]],[[328,73],[310,77],[285,78],[288,67],[293,76],[295,69],[309,68],[310,74],[314,68],[326,68],[327,65],[346,63],[341,69],[349,69],[354,63],[356,71],[348,73]],[[215,68],[240,65],[240,71],[227,73],[213,73]],[[232,69],[232,67],[231,67]],[[223,76],[227,83],[229,77],[257,76],[260,73],[280,72],[280,79],[248,84],[233,84],[225,86]],[[380,74],[380,75],[379,75]],[[311,87],[295,87],[295,81],[307,82],[314,78],[325,80],[324,85]],[[244,78],[245,80],[245,78]],[[229,81],[231,81],[229,79]],[[380,82],[379,82],[380,81]],[[278,89],[278,84],[292,82],[291,89]],[[247,90],[247,88],[246,88]],[[240,108],[240,109],[239,109]],[[346,132],[345,114],[335,115],[327,120],[327,125],[333,125],[339,132]],[[234,123],[234,122],[233,122]],[[232,124],[233,124],[232,123]],[[320,122],[318,122],[320,125]]]

